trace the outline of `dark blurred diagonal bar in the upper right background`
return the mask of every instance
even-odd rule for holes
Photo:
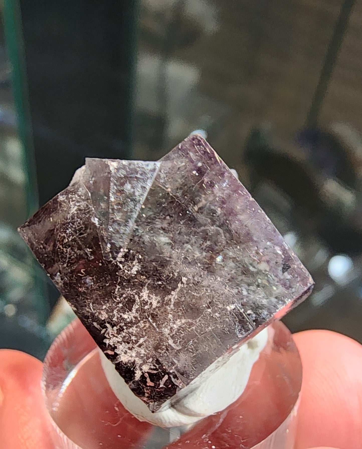
[[[318,123],[320,110],[324,97],[326,96],[328,86],[331,80],[331,75],[336,65],[340,46],[342,44],[344,33],[348,26],[349,16],[355,4],[355,0],[344,0],[340,15],[337,19],[334,31],[331,37],[331,41],[328,46],[327,54],[324,59],[321,74],[319,76],[317,87],[314,91],[313,100],[307,114],[306,123],[307,126],[314,126]]]

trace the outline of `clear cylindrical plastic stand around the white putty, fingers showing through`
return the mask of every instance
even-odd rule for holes
[[[279,321],[247,387],[224,411],[193,427],[163,429],[134,418],[103,373],[79,320],[57,337],[44,361],[43,392],[56,449],[292,449],[302,381],[298,350]]]

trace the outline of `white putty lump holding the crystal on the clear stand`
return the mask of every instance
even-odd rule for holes
[[[101,350],[100,357],[110,387],[130,413],[140,421],[156,426],[176,427],[196,423],[236,401],[243,393],[252,366],[267,340],[268,329],[264,329],[227,360],[220,357],[155,413],[150,412],[146,404],[132,393]]]

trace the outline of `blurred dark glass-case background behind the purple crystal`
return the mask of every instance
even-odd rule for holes
[[[362,0],[2,0],[0,347],[69,309],[18,236],[86,156],[199,130],[312,273],[285,318],[362,342]]]

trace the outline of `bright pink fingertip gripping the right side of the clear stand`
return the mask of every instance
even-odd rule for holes
[[[294,336],[303,364],[297,449],[362,447],[362,346],[328,330]]]

